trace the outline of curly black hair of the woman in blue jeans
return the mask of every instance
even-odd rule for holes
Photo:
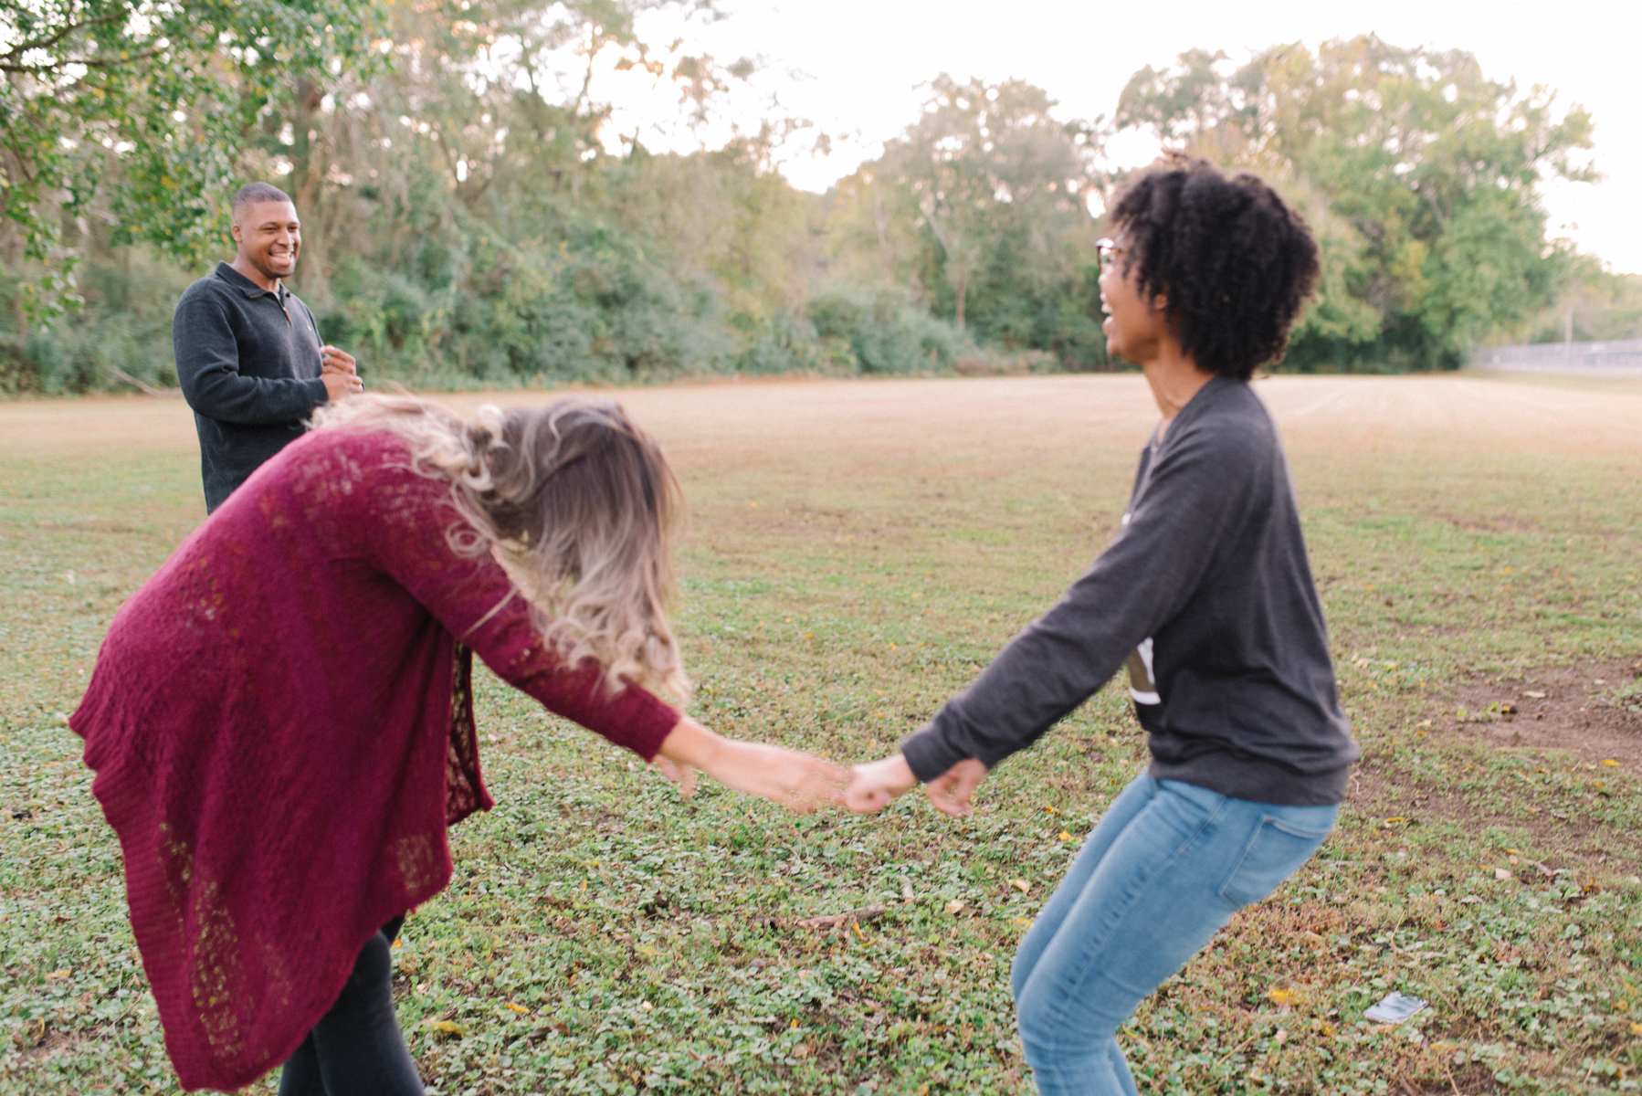
[[[1317,243],[1261,179],[1176,153],[1123,189],[1112,227],[1125,271],[1138,268],[1143,297],[1167,297],[1169,327],[1199,368],[1248,380],[1282,358],[1317,286]]]

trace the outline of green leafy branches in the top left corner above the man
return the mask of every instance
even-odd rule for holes
[[[0,248],[33,263],[34,319],[74,304],[77,251],[99,187],[115,243],[199,260],[258,117],[292,79],[361,66],[374,0],[0,2]]]

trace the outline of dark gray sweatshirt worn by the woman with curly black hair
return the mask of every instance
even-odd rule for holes
[[[992,767],[1125,661],[1154,777],[1261,804],[1345,797],[1360,751],[1282,444],[1245,381],[1199,389],[1143,452],[1112,546],[901,753],[920,781]]]

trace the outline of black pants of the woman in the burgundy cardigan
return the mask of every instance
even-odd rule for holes
[[[394,1019],[396,917],[371,937],[337,1004],[279,1073],[279,1096],[422,1096],[410,1050]]]

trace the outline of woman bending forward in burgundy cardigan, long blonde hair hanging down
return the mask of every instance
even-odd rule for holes
[[[722,739],[654,690],[680,488],[612,403],[360,396],[263,465],[118,611],[80,708],[177,1076],[420,1093],[392,1015],[399,920],[491,807],[471,656],[645,761],[805,810],[826,762]]]

